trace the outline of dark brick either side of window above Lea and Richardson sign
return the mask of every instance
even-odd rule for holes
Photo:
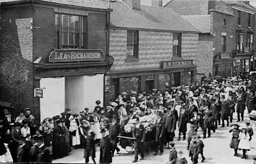
[[[48,62],[48,56],[55,47],[55,12],[46,7],[35,7],[33,54]],[[88,14],[88,49],[100,49],[105,52],[105,18],[102,13]]]

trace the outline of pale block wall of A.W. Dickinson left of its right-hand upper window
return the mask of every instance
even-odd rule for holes
[[[172,57],[172,33],[168,32],[139,32],[139,62],[126,60],[126,30],[110,30],[109,52],[115,59],[110,71],[127,71],[134,69],[160,68],[160,62]]]

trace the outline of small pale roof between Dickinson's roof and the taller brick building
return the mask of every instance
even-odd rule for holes
[[[200,32],[210,33],[210,15],[184,15],[182,17]]]

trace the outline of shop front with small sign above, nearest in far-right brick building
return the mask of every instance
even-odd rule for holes
[[[233,58],[231,52],[221,52],[220,58],[214,59],[214,75],[220,77],[231,77],[233,70]]]

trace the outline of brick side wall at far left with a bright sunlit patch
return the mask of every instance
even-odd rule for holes
[[[1,101],[20,109],[33,106],[32,15],[31,7],[1,9]]]

